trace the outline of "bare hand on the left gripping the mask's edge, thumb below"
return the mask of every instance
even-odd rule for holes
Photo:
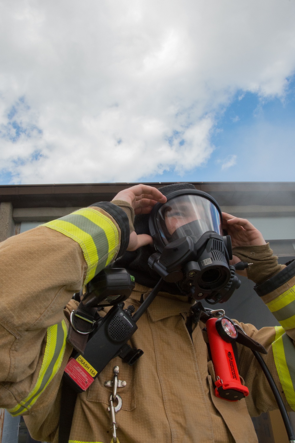
[[[148,185],[135,185],[120,191],[114,200],[124,200],[134,209],[135,214],[149,214],[157,202],[165,203],[167,198],[157,188]],[[152,245],[153,239],[148,234],[130,233],[127,251],[135,251],[140,246]]]

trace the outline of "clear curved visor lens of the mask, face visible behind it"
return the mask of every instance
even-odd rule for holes
[[[216,206],[198,195],[182,195],[165,203],[157,213],[156,223],[165,245],[187,236],[199,240],[207,231],[223,235]]]

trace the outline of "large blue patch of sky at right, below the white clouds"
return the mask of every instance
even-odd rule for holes
[[[204,166],[139,181],[295,181],[295,77],[288,80],[282,98],[238,91],[217,114],[211,143],[215,149]]]

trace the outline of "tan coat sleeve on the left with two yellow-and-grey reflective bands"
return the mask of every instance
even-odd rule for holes
[[[125,212],[112,203],[103,208],[78,210],[0,243],[0,407],[13,416],[37,409],[54,415],[72,351],[64,308],[128,245]],[[47,435],[58,416],[49,422]]]

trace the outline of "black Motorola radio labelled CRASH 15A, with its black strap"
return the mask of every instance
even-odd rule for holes
[[[67,342],[73,346],[73,352],[62,378],[59,443],[69,442],[78,393],[88,389],[112,358],[119,356],[133,365],[143,354],[126,343],[137,326],[128,309],[123,310],[123,304],[113,306],[105,317],[99,315],[97,307],[84,307],[83,303],[71,314]],[[88,364],[89,373],[81,371],[77,360]],[[75,377],[76,366],[77,374],[82,372],[84,379]]]

